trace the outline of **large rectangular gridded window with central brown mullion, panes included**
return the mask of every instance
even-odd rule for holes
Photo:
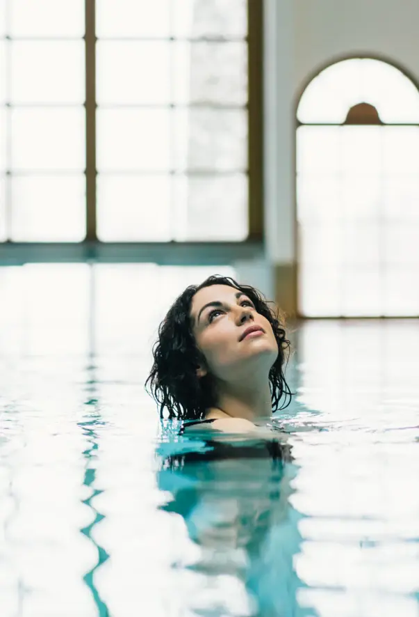
[[[0,240],[245,240],[248,10],[0,0]]]

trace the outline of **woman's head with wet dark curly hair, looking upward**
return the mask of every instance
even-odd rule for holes
[[[243,338],[249,327],[254,334]],[[216,407],[217,384],[265,375],[276,409],[290,397],[283,370],[288,345],[279,318],[256,289],[209,276],[186,288],[165,316],[146,385],[161,416],[166,407],[170,418],[199,419]]]

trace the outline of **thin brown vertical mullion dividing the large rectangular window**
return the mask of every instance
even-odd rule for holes
[[[96,231],[96,15],[95,0],[85,0],[85,155],[86,240]]]

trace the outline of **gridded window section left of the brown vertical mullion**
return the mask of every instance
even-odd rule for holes
[[[0,240],[85,235],[81,0],[0,2]]]

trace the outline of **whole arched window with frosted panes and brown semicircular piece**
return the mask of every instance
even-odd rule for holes
[[[299,313],[419,315],[419,92],[371,58],[320,72],[297,109]]]

